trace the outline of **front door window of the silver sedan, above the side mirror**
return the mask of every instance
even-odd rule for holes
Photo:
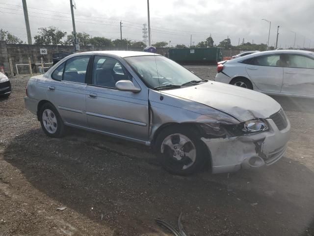
[[[116,83],[120,80],[132,81],[132,77],[118,60],[95,56],[92,75],[93,85],[115,89]]]

